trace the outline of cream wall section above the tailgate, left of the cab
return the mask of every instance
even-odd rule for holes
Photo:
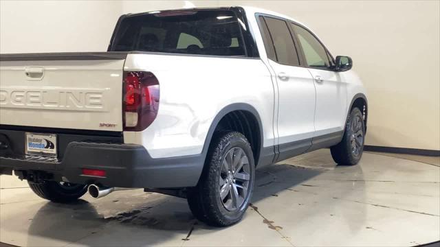
[[[106,51],[120,1],[0,0],[0,52]]]

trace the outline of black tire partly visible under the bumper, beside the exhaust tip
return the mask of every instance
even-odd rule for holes
[[[61,185],[55,181],[43,181],[42,183],[29,182],[29,187],[37,196],[52,202],[73,202],[87,192],[87,185],[68,184]]]

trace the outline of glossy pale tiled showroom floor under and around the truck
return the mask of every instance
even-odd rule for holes
[[[386,155],[365,153],[360,165],[336,167],[329,150],[318,150],[261,169],[251,207],[242,222],[228,228],[197,222],[184,199],[142,189],[98,200],[87,195],[64,205],[38,198],[15,177],[1,176],[0,241],[17,246],[415,246],[438,241],[440,158]]]

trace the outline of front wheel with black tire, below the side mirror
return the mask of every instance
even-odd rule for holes
[[[358,121],[354,121],[356,119]],[[353,133],[353,128],[356,127],[358,127],[360,131],[362,131],[362,140],[360,140],[358,137],[356,137],[356,139],[353,139],[353,134],[357,135],[356,133],[360,133]],[[360,161],[360,158],[362,157],[362,152],[364,151],[364,137],[364,117],[360,109],[355,107],[351,110],[349,118],[347,119],[347,124],[345,125],[344,137],[342,137],[342,141],[338,143],[338,145],[334,145],[330,148],[333,161],[338,163],[338,165],[356,165]],[[356,151],[355,149],[353,149],[352,141],[358,141],[357,143],[360,147],[356,148]]]

